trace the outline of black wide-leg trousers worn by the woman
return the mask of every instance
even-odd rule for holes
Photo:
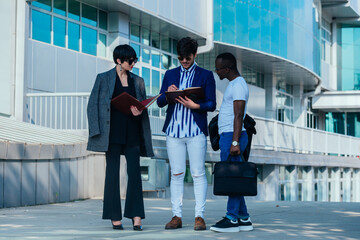
[[[140,172],[140,147],[110,144],[106,152],[103,219],[122,219],[120,200],[120,155],[123,151],[128,174],[124,217],[145,218]]]

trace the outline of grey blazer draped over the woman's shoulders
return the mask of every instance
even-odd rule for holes
[[[135,94],[139,101],[146,99],[145,83],[141,77],[130,73],[134,79]],[[89,141],[87,150],[94,152],[106,152],[109,147],[110,134],[110,105],[115,88],[116,69],[100,73],[96,77],[91,91],[87,116],[89,122]],[[143,157],[154,156],[151,141],[150,121],[147,109],[141,114],[141,142],[140,155]]]

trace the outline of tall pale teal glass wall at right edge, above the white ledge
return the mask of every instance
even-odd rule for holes
[[[341,28],[342,91],[360,90],[360,27],[343,25]]]

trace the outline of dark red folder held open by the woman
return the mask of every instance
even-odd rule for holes
[[[145,99],[144,101],[139,101],[127,92],[121,93],[119,96],[113,98],[111,100],[111,106],[119,110],[120,112],[131,115],[132,112],[130,110],[130,106],[135,106],[139,111],[142,111],[148,108],[151,104],[153,104],[161,94]]]

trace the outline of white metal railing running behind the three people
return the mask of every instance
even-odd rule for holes
[[[28,122],[55,129],[87,129],[86,106],[90,93],[29,93]],[[152,111],[149,111],[150,115]],[[360,138],[297,127],[254,117],[257,134],[252,147],[310,154],[360,155]],[[164,117],[150,116],[151,131],[164,135]]]

